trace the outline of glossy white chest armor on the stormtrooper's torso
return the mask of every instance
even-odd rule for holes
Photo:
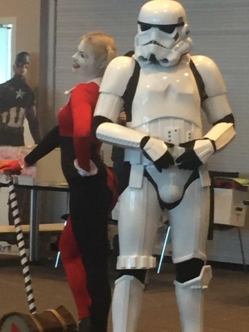
[[[155,122],[160,122],[160,127],[170,128],[174,127],[174,124],[176,127],[184,127],[183,124],[188,123],[187,127],[192,131],[193,125],[201,128],[200,109],[199,91],[186,62],[173,67],[150,64],[140,69],[131,109],[131,122],[127,127],[143,127],[143,131],[151,133],[149,126],[153,127]],[[156,127],[155,131],[160,133],[158,124]]]

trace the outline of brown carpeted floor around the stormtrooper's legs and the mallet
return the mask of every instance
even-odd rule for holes
[[[77,317],[62,266],[54,268],[55,257],[30,266],[37,312],[64,305]],[[110,266],[113,266],[112,262]],[[0,255],[0,316],[19,311],[28,313],[21,266],[18,257]],[[204,332],[249,331],[249,274],[242,270],[216,268],[205,297]],[[111,284],[116,277],[110,268]],[[138,332],[181,332],[174,296],[174,266],[164,263],[159,275],[151,270]],[[109,320],[111,332],[111,317]]]

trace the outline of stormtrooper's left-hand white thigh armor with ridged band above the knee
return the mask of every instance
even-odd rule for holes
[[[161,210],[154,187],[142,174],[142,165],[132,165],[129,187],[120,196],[118,269],[156,266],[152,251]]]

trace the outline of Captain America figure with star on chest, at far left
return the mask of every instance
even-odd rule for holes
[[[18,53],[13,66],[15,75],[0,84],[0,145],[24,145],[25,118],[35,144],[40,141],[35,93],[25,80],[28,64],[29,54]]]

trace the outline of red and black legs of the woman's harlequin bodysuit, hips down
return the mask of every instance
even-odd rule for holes
[[[107,331],[111,305],[107,231],[116,195],[113,187],[110,189],[113,185],[110,175],[109,169],[101,169],[95,176],[70,181],[70,219],[59,243],[79,319],[90,315],[94,332]]]

